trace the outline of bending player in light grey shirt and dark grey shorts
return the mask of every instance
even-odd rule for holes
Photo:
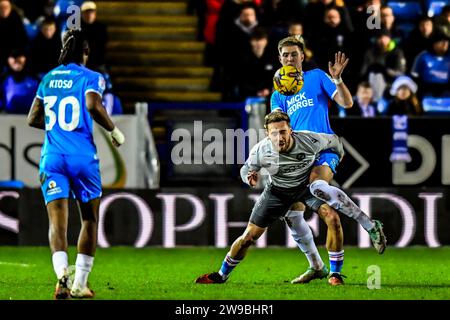
[[[268,137],[256,144],[241,168],[242,180],[256,186],[261,169],[270,175],[268,183],[253,207],[246,230],[231,246],[219,272],[197,278],[197,283],[223,283],[245,257],[248,248],[295,202],[305,203],[314,211],[327,204],[315,198],[307,187],[314,161],[322,150],[332,150],[342,159],[344,151],[335,134],[293,132],[289,116],[272,112],[266,116]]]

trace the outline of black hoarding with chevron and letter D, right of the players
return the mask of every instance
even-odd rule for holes
[[[335,180],[347,187],[450,185],[450,118],[408,120],[410,163],[393,164],[392,119],[332,118],[331,127],[343,138],[346,156]]]

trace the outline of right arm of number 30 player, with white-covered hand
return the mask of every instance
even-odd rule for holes
[[[112,143],[116,147],[122,145],[125,142],[125,136],[112,122],[106,109],[103,107],[100,95],[95,92],[88,92],[86,94],[86,106],[94,121],[110,133]]]

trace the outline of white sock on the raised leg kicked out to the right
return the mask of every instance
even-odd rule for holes
[[[341,189],[330,186],[325,180],[316,180],[309,186],[316,198],[325,201],[332,208],[355,219],[366,230],[375,227],[375,223]]]

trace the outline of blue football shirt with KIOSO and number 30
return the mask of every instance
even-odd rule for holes
[[[75,63],[60,65],[45,75],[36,94],[45,108],[42,156],[96,155],[86,93],[95,92],[101,97],[104,90],[105,79],[101,74]]]

